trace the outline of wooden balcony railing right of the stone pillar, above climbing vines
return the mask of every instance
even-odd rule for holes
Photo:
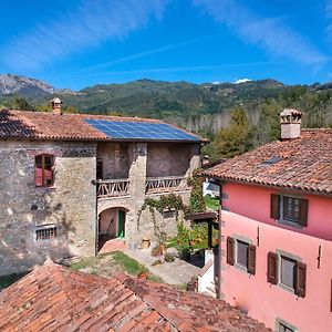
[[[145,181],[145,194],[159,194],[188,190],[187,178],[179,176],[148,177]]]

